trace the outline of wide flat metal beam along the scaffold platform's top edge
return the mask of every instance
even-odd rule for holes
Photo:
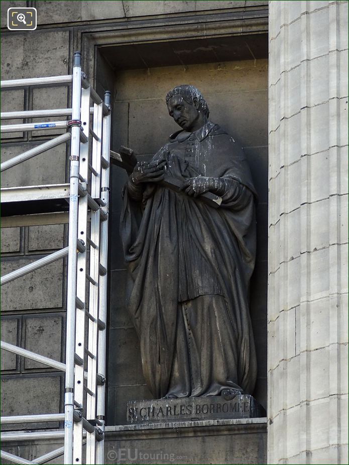
[[[31,200],[69,199],[70,184],[5,187],[1,189],[1,203]]]

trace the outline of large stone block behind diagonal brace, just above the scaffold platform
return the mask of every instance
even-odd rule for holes
[[[4,145],[3,162],[39,145],[40,142]],[[61,144],[2,173],[3,187],[60,184],[65,182],[66,145]]]

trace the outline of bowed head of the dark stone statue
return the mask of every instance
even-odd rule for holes
[[[187,131],[196,130],[207,121],[206,100],[194,86],[176,86],[166,95],[166,103],[170,116]]]

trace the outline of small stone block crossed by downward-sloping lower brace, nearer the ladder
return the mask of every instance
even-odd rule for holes
[[[62,317],[35,316],[25,319],[25,348],[50,359],[61,361]],[[25,359],[24,368],[46,368],[46,365]]]

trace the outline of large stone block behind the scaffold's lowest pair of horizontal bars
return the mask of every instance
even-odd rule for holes
[[[34,415],[60,411],[61,375],[5,376],[2,379],[1,414]],[[58,422],[30,423],[31,428],[58,428]],[[4,430],[18,425],[3,425]],[[23,428],[22,428],[23,429]]]

